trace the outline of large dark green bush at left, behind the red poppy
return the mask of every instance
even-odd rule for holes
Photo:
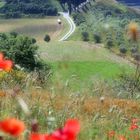
[[[0,34],[0,52],[12,59],[13,62],[28,71],[40,68],[41,63],[38,57],[38,46],[34,44],[32,38],[13,34]]]

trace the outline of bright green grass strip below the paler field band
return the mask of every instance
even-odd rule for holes
[[[93,62],[52,62],[51,65],[54,73],[59,73],[65,80],[75,75],[81,81],[92,79],[92,77],[116,78],[122,70],[128,68],[115,62],[103,60]]]

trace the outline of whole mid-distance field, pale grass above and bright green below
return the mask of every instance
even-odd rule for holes
[[[93,79],[111,82],[123,71],[133,71],[132,64],[127,60],[102,45],[88,42],[52,42],[47,47],[41,46],[39,53],[52,66],[53,81],[65,83],[72,79],[72,88],[88,86]]]

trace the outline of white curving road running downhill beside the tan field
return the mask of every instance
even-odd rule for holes
[[[68,21],[70,25],[70,30],[68,33],[66,33],[59,41],[65,41],[67,40],[75,31],[76,25],[73,21],[73,19],[69,16],[69,13],[59,12],[63,17]]]

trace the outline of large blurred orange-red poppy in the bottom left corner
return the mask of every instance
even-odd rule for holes
[[[0,122],[0,130],[17,137],[25,130],[25,125],[14,118],[6,119]]]

